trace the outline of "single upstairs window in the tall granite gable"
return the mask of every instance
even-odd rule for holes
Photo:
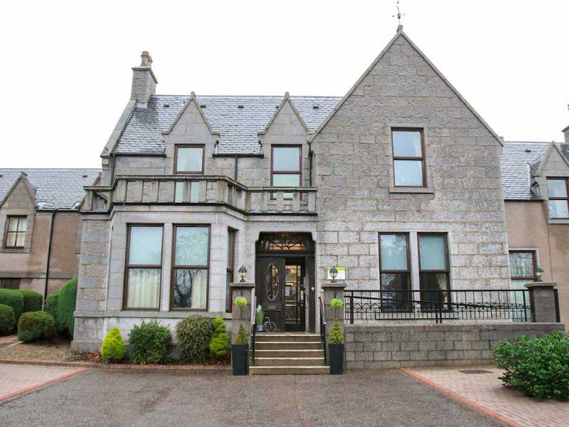
[[[395,186],[426,186],[422,130],[393,129],[391,139]]]

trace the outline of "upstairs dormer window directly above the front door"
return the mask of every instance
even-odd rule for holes
[[[272,146],[272,186],[300,186],[301,152],[299,145]],[[285,193],[285,199],[292,199],[292,193]]]

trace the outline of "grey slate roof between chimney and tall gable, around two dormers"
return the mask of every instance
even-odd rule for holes
[[[153,95],[147,108],[134,110],[114,153],[164,154],[161,131],[169,128],[189,98],[189,95]],[[260,154],[257,133],[265,129],[282,99],[282,96],[196,97],[212,129],[220,134],[218,154]],[[341,97],[292,96],[290,99],[313,132]]]

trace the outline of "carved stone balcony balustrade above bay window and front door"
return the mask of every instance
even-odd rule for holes
[[[250,215],[317,214],[314,187],[247,187],[227,176],[116,176],[112,186],[84,188],[84,212],[117,205],[196,205]]]

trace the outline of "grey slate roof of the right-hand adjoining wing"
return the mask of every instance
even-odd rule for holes
[[[500,157],[502,190],[506,200],[533,200],[530,174],[536,173],[551,142],[506,142]],[[569,159],[569,144],[557,144]]]

